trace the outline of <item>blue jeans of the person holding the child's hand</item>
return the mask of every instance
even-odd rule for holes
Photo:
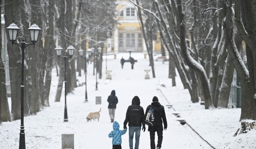
[[[129,146],[130,149],[133,149],[133,137],[135,132],[135,148],[139,149],[139,143],[140,143],[140,126],[129,126]]]

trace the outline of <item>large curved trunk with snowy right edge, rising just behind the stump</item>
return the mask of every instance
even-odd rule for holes
[[[251,95],[250,95],[250,78],[249,72],[246,69],[240,54],[236,48],[233,35],[233,11],[232,11],[232,2],[228,0],[225,2],[226,7],[226,23],[224,28],[227,33],[227,49],[230,54],[232,63],[238,73],[239,79],[241,81],[241,116],[240,120],[250,119],[251,118]]]

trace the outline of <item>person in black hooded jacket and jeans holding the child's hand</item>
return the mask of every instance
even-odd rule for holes
[[[133,149],[133,138],[135,132],[134,149],[139,149],[141,125],[143,132],[145,132],[146,127],[144,121],[144,110],[143,107],[140,106],[140,98],[138,96],[134,96],[131,100],[131,106],[128,106],[124,121],[124,129],[127,129],[127,123],[129,126],[129,147],[130,149]]]

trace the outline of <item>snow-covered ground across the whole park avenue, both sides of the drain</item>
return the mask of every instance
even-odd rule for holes
[[[172,87],[172,80],[168,79],[168,62],[155,61],[156,78],[145,80],[144,69],[148,67],[148,57],[144,59],[142,53],[132,53],[131,56],[138,60],[131,69],[130,63],[125,63],[121,69],[121,57],[128,59],[128,53],[108,55],[108,69],[112,70],[112,80],[98,79],[98,90],[95,90],[96,78],[93,76],[92,64],[88,65],[87,93],[88,103],[84,103],[85,86],[79,86],[72,94],[67,95],[68,122],[64,118],[64,89],[61,102],[55,103],[55,93],[58,83],[56,72],[52,72],[52,88],[50,93],[50,107],[44,108],[37,115],[24,118],[26,133],[26,149],[60,149],[61,134],[73,133],[76,149],[111,149],[111,138],[108,133],[112,130],[112,123],[108,116],[107,97],[113,89],[119,99],[115,120],[122,129],[127,107],[131,99],[140,97],[144,110],[153,96],[157,96],[162,105],[173,104],[176,112],[180,112],[182,119],[192,126],[215,149],[255,149],[256,130],[247,134],[233,137],[240,126],[239,117],[241,109],[209,109],[205,110],[200,103],[190,101],[189,92],[183,89],[179,77],[177,86]],[[103,56],[103,70],[105,70],[105,56]],[[84,82],[84,74],[77,77],[78,83]],[[161,86],[162,84],[165,87]],[[160,90],[159,90],[160,89]],[[163,95],[161,94],[161,92]],[[102,104],[95,104],[95,97],[102,97]],[[101,110],[100,120],[87,122],[89,112]],[[163,132],[162,149],[212,149],[187,125],[181,125],[172,112],[165,106],[168,128]],[[147,128],[147,126],[146,126]],[[0,149],[17,149],[19,146],[20,120],[3,122],[0,126]],[[122,147],[127,149],[128,133],[122,136]],[[150,149],[149,132],[141,132],[140,149]]]

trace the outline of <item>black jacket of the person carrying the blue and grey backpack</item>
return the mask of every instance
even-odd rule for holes
[[[148,131],[163,131],[163,126],[164,128],[167,128],[167,120],[164,107],[159,102],[155,101],[147,107],[145,115],[150,109],[150,106],[152,106],[152,108],[154,109],[156,124],[154,126],[148,126]]]

